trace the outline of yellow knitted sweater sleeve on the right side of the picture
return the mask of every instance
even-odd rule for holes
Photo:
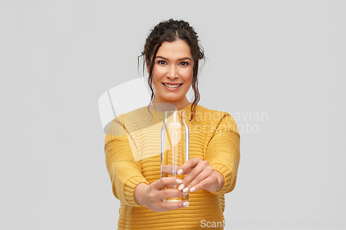
[[[229,113],[224,114],[212,134],[206,160],[215,171],[224,175],[224,186],[213,194],[221,195],[233,191],[240,160],[240,135],[237,124]]]

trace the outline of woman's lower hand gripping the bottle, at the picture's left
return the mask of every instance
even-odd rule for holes
[[[181,184],[181,180],[176,178],[160,178],[150,185],[140,183],[134,189],[134,200],[152,211],[169,211],[189,206],[189,202],[172,202],[166,203],[163,200],[167,198],[178,198],[183,196],[183,192],[172,188],[173,185]]]

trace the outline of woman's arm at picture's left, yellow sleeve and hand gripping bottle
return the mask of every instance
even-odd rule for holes
[[[123,120],[116,117],[106,135],[104,153],[106,165],[112,182],[113,194],[123,204],[129,206],[143,205],[152,211],[169,211],[188,207],[189,202],[165,203],[164,199],[183,196],[176,189],[162,190],[172,184],[179,185],[181,181],[175,178],[161,178],[149,184],[143,177],[140,161],[134,160],[135,144],[127,133]],[[130,137],[130,138],[129,138]]]

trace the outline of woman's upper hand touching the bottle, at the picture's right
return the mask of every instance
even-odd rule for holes
[[[215,193],[224,186],[224,176],[212,169],[208,161],[201,160],[199,157],[185,162],[180,167],[178,174],[186,174],[183,185],[179,186],[179,190],[182,190],[184,195],[189,191],[199,191],[200,189]]]

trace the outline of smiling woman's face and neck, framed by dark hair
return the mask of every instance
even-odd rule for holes
[[[192,84],[193,65],[190,46],[185,41],[164,41],[154,59],[154,103],[171,103],[177,109],[190,104],[186,93]]]

